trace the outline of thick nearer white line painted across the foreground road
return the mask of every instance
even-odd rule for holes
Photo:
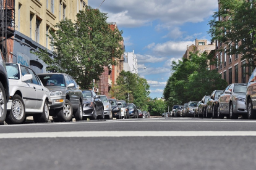
[[[55,137],[210,137],[256,136],[256,131],[82,131],[0,134],[0,139]]]

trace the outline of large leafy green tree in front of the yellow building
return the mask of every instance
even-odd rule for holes
[[[54,30],[46,35],[51,39],[54,57],[49,57],[46,49],[35,52],[49,70],[68,73],[77,79],[82,89],[93,87],[93,79],[98,80],[104,66],[116,65],[124,53],[120,41],[122,31],[111,30],[106,22],[107,15],[87,6],[80,10],[77,20],[65,18],[54,25]]]

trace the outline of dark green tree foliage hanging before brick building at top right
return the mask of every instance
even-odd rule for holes
[[[255,0],[220,0],[220,10],[215,12],[210,20],[212,41],[226,44],[228,54],[242,54],[242,59],[248,63],[246,67],[255,67]],[[237,46],[238,45],[238,46]],[[229,51],[230,49],[230,51]],[[218,49],[223,51],[223,49]]]

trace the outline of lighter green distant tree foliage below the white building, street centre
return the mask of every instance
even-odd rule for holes
[[[116,84],[111,87],[111,97],[118,100],[126,100],[127,103],[134,103],[142,110],[147,110],[148,95],[150,86],[145,78],[129,71],[122,71],[116,79]],[[129,98],[128,98],[129,96]]]

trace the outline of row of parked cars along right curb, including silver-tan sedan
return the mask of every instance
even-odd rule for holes
[[[174,105],[171,116],[194,116],[203,118],[256,118],[256,69],[248,83],[229,84],[205,95],[200,101]]]

